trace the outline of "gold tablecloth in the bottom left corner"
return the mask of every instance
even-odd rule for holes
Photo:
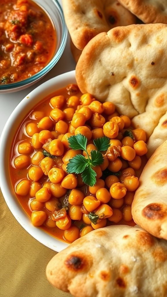
[[[55,254],[23,229],[0,190],[0,297],[72,296],[46,278],[47,263]]]

